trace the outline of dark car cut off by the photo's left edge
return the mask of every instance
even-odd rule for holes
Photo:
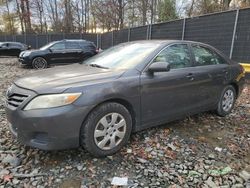
[[[22,51],[28,50],[29,47],[26,44],[20,42],[0,42],[0,56],[16,56]]]

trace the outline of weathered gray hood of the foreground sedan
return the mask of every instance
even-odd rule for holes
[[[75,85],[89,85],[118,78],[124,70],[102,69],[87,65],[68,65],[28,74],[14,84],[36,93],[59,93]]]

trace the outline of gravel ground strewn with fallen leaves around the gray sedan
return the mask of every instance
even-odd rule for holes
[[[14,78],[34,70],[0,58],[0,98]],[[250,85],[231,115],[203,113],[132,135],[114,156],[82,149],[45,152],[20,145],[0,102],[0,187],[250,187]]]

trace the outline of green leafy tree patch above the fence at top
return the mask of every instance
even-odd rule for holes
[[[161,0],[158,4],[159,21],[169,21],[178,18],[174,0]]]

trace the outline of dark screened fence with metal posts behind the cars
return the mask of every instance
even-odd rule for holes
[[[2,35],[0,41],[18,41],[39,48],[62,39],[86,39],[103,49],[149,39],[193,40],[210,44],[232,59],[250,62],[250,8],[128,28],[104,34]]]

